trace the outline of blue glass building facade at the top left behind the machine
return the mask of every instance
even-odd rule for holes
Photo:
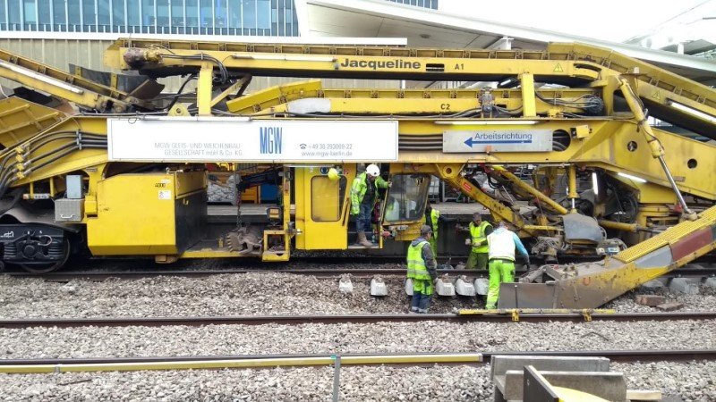
[[[294,0],[0,0],[0,30],[298,36]]]

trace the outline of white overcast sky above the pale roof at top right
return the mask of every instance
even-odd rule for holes
[[[443,13],[624,42],[714,0],[439,0]],[[705,7],[704,7],[705,8]],[[711,8],[711,7],[708,7]]]

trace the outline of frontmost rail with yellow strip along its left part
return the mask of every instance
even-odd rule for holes
[[[192,362],[256,362],[253,367],[276,367],[282,365],[316,365],[332,364],[336,354],[296,354],[296,355],[227,355],[227,356],[132,356],[132,357],[77,357],[77,358],[30,358],[30,359],[0,359],[0,373],[31,373],[30,367],[37,367],[34,373],[53,373],[59,371],[81,371],[67,370],[72,365],[101,365],[126,364],[132,370],[141,370],[137,366],[129,364],[166,364],[165,369],[171,369],[172,364],[189,365]],[[686,362],[696,360],[716,360],[716,349],[667,349],[667,350],[535,350],[535,351],[500,351],[489,350],[482,352],[458,352],[449,354],[435,353],[411,353],[411,354],[345,354],[340,355],[344,359],[354,359],[355,364],[425,364],[427,362],[444,364],[485,364],[492,356],[598,356],[607,357],[611,361],[621,363],[635,362]],[[323,359],[319,362],[301,364],[305,359]],[[291,360],[294,360],[292,364]],[[264,364],[260,364],[264,361]],[[235,366],[242,366],[236,364]],[[243,365],[246,367],[247,365]],[[25,368],[23,370],[23,367]],[[101,366],[100,366],[101,367]],[[65,368],[65,370],[62,370]],[[88,367],[87,371],[93,367]],[[98,368],[98,367],[94,367]],[[177,366],[175,368],[189,368]],[[213,367],[199,368],[217,368]],[[157,369],[156,366],[149,366],[149,369]],[[39,371],[41,370],[41,371]]]

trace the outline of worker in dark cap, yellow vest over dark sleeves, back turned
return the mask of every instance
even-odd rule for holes
[[[414,239],[408,247],[407,277],[413,280],[410,313],[428,313],[435,288],[434,281],[438,278],[438,262],[432,254],[430,237],[432,237],[432,229],[428,225],[422,225],[420,237]]]

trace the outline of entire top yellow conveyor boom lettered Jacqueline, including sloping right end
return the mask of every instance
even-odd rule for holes
[[[171,58],[163,57],[171,53]],[[119,39],[107,49],[105,62],[118,69],[155,70],[170,67],[200,67],[201,60],[182,56],[208,54],[220,60],[227,69],[251,71],[257,75],[323,76],[346,78],[396,78],[436,80],[502,80],[516,77],[525,88],[525,115],[533,115],[530,91],[535,78],[553,80],[586,80],[593,88],[613,92],[609,77],[624,76],[632,80],[635,94],[661,111],[689,121],[697,128],[713,128],[713,121],[699,121],[671,107],[677,102],[716,116],[716,96],[691,80],[640,62],[609,49],[584,44],[553,43],[547,51],[484,49],[413,49],[380,46],[307,46],[215,43],[192,41],[158,41]],[[125,61],[126,59],[126,61]],[[132,61],[132,65],[127,63]],[[353,63],[348,63],[348,62]],[[413,63],[417,63],[415,67]],[[636,82],[638,80],[638,83]],[[613,103],[605,96],[607,112]],[[681,120],[684,120],[681,119]]]

